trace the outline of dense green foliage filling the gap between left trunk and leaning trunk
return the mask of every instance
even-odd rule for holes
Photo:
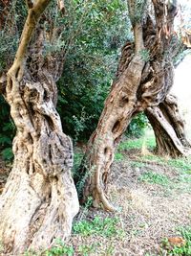
[[[71,43],[58,81],[57,109],[64,131],[74,141],[86,140],[96,128],[120,48],[132,32],[125,1],[67,1],[66,7],[73,13],[66,21],[72,26],[65,41]]]

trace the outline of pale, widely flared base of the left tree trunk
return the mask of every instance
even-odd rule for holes
[[[46,248],[56,238],[65,240],[78,212],[74,182],[68,172],[45,179],[43,174],[32,177],[23,172],[25,166],[21,158],[14,161],[0,198],[0,241],[5,254],[19,255],[28,248]]]

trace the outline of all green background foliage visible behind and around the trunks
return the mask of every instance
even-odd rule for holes
[[[46,42],[44,55],[65,55],[64,71],[57,83],[57,109],[64,132],[71,135],[74,142],[87,140],[96,128],[115,77],[120,48],[127,39],[132,39],[127,4],[123,0],[68,0],[65,1],[64,18],[54,6],[53,1],[52,8],[46,12],[45,28],[50,33],[59,27],[61,32]],[[25,5],[14,0],[0,34],[2,70],[8,64],[8,53],[9,61],[15,54],[25,16]],[[49,22],[50,19],[52,22]],[[2,107],[9,109],[5,105]],[[142,115],[136,117],[130,125],[130,134],[137,136],[144,121]],[[6,135],[8,139],[12,138],[11,132]],[[2,147],[5,149],[8,146]],[[8,151],[4,155],[11,157]]]

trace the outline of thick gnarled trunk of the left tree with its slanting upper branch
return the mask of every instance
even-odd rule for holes
[[[55,110],[59,58],[43,57],[43,30],[33,35],[49,2],[39,0],[30,8],[8,72],[6,97],[17,133],[11,175],[0,198],[0,241],[11,255],[66,239],[78,211],[72,141]]]

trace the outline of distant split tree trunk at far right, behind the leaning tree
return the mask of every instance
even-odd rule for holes
[[[167,95],[164,102],[148,107],[145,114],[155,132],[158,154],[178,157],[190,153],[190,143],[185,136],[175,96]]]

